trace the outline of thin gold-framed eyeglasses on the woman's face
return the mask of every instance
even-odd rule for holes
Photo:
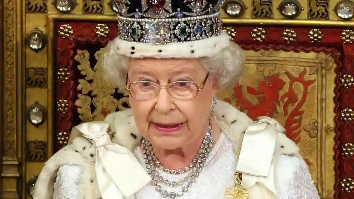
[[[167,85],[159,85],[151,81],[136,81],[128,84],[128,75],[126,78],[126,89],[130,95],[138,100],[155,99],[161,89],[166,89],[167,93],[178,100],[190,100],[198,95],[198,92],[204,88],[209,72],[206,74],[202,83],[198,86],[192,81],[175,81]]]

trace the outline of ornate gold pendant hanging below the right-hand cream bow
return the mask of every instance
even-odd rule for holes
[[[227,199],[247,199],[248,193],[246,189],[242,188],[242,174],[235,173],[234,187],[228,187],[225,191]]]

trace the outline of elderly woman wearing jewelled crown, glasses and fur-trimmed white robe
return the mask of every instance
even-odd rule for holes
[[[319,198],[278,122],[216,99],[244,64],[221,30],[221,0],[115,3],[103,68],[131,109],[74,127],[34,199]]]

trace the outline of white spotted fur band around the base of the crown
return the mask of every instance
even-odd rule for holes
[[[212,57],[233,44],[230,36],[221,31],[220,35],[193,42],[171,42],[166,45],[152,45],[115,38],[114,53],[132,58],[200,58]]]

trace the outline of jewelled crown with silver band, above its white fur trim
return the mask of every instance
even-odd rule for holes
[[[114,0],[118,37],[167,44],[210,38],[221,32],[223,0]]]

